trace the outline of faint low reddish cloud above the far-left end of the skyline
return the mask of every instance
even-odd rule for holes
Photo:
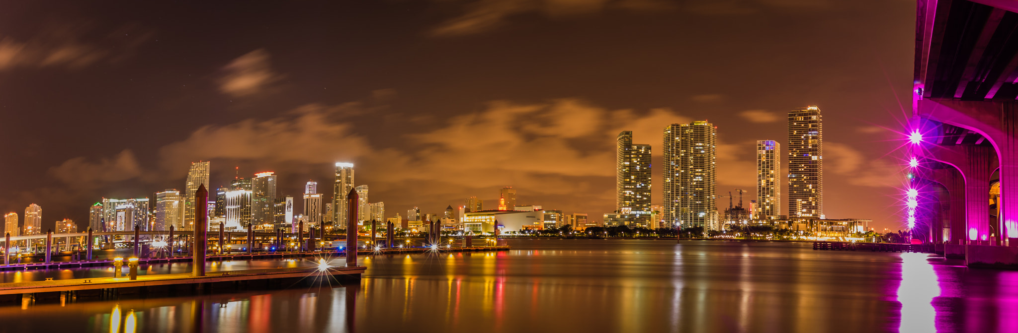
[[[50,169],[50,175],[75,189],[93,189],[106,183],[120,182],[142,175],[134,153],[124,149],[111,158],[98,161],[74,157]]]

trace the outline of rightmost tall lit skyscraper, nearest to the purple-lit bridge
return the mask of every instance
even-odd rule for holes
[[[824,126],[816,106],[788,113],[788,218],[824,218]]]

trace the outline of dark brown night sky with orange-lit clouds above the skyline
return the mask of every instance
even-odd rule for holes
[[[213,187],[274,171],[295,197],[307,180],[331,197],[353,162],[387,216],[494,208],[513,186],[601,220],[619,131],[653,145],[660,204],[663,128],[704,119],[719,194],[748,202],[755,140],[784,149],[785,113],[817,105],[827,217],[903,228],[891,130],[914,17],[898,0],[2,1],[0,212],[83,227],[101,197],[183,190],[202,159]]]

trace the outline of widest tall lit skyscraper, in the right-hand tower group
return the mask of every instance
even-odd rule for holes
[[[718,128],[705,121],[672,124],[664,136],[663,220],[667,226],[717,229]]]

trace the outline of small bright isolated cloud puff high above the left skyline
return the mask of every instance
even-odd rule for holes
[[[265,49],[259,49],[234,59],[223,67],[226,73],[219,79],[219,90],[235,97],[264,91],[282,78],[272,71],[270,58]]]

